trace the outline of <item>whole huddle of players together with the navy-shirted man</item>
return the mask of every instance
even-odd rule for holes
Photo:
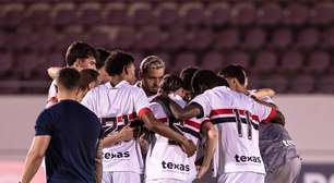
[[[73,42],[55,78],[22,182],[45,157],[48,182],[295,183],[301,160],[270,88],[249,89],[247,71],[186,68],[166,74],[144,58]],[[34,156],[37,154],[38,156]]]

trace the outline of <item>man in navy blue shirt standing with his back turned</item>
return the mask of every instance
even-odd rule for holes
[[[32,181],[44,156],[48,183],[96,181],[95,157],[102,126],[90,109],[75,101],[79,81],[80,73],[76,70],[60,70],[56,80],[59,102],[37,118],[22,183]]]

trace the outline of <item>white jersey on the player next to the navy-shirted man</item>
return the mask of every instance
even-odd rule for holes
[[[82,103],[102,119],[105,135],[112,134],[136,117],[147,112],[148,101],[143,89],[122,81],[115,87],[99,85],[87,93]],[[121,142],[104,148],[104,171],[143,173],[143,160],[138,139]]]

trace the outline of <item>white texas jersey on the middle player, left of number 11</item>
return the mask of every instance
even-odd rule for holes
[[[180,96],[169,95],[181,107],[184,107],[186,102]],[[152,102],[150,106],[155,118],[169,125],[171,129],[179,133],[182,133],[188,138],[191,138],[195,144],[200,135],[200,127],[202,121],[187,121],[171,123],[168,120],[163,107],[157,102]],[[146,156],[145,175],[146,181],[159,180],[159,179],[175,179],[184,182],[191,182],[195,179],[195,157],[188,158],[187,154],[182,151],[176,142],[172,142],[159,134],[154,134],[155,141],[151,143],[148,152]]]

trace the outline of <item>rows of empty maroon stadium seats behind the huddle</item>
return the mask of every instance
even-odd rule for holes
[[[47,68],[85,40],[163,53],[172,72],[238,63],[278,93],[329,94],[333,25],[332,1],[1,0],[0,93],[45,94]]]

